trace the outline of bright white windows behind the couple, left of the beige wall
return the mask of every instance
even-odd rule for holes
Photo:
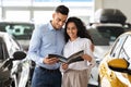
[[[70,16],[85,23],[94,14],[94,0],[0,0],[1,21],[47,22],[58,4],[70,8]],[[82,5],[81,5],[82,4]]]

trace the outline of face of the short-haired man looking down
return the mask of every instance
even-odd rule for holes
[[[52,20],[52,26],[53,26],[53,28],[60,29],[64,25],[64,23],[67,21],[67,17],[68,17],[68,15],[63,15],[61,13],[53,13],[52,14],[52,18],[53,18]]]

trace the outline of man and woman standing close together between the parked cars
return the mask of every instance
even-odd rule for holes
[[[93,44],[82,21],[68,18],[68,14],[66,5],[58,5],[52,20],[33,32],[27,53],[27,58],[36,63],[32,87],[61,87],[61,83],[62,87],[87,87],[87,74],[94,65]],[[84,50],[81,62],[60,64],[57,58],[48,59],[49,53],[68,58],[80,50]]]

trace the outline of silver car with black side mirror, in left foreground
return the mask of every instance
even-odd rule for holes
[[[0,32],[0,87],[29,87],[29,60],[16,39]]]

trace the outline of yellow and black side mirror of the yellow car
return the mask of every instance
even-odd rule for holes
[[[121,73],[128,73],[131,75],[131,70],[128,69],[129,62],[124,59],[114,59],[108,62],[110,70]]]

